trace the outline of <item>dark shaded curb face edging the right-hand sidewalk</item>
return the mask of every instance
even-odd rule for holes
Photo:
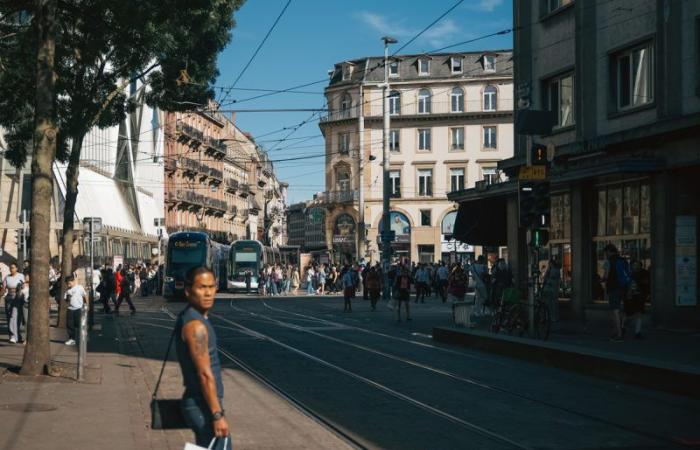
[[[700,370],[694,367],[621,356],[567,344],[450,327],[433,328],[433,339],[583,375],[700,399]]]

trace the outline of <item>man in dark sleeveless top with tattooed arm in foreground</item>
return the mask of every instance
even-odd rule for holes
[[[173,336],[185,391],[182,415],[198,446],[231,450],[224,411],[224,384],[217,350],[217,337],[208,312],[214,306],[216,277],[207,267],[190,269],[185,275],[188,306],[177,316]],[[212,440],[216,439],[213,446]]]

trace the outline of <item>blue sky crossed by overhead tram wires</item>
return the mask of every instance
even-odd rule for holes
[[[217,86],[230,86],[238,77],[287,0],[248,0],[237,12],[233,39],[219,57]],[[439,17],[456,0],[292,0],[262,50],[236,84],[243,89],[285,89],[321,80],[337,62],[383,52],[381,36],[389,34],[398,46]],[[430,51],[512,26],[512,0],[465,0],[448,16],[426,31],[401,53]],[[398,46],[394,48],[398,48]],[[451,50],[504,49],[512,47],[512,36],[497,36]],[[325,83],[303,88],[305,93],[284,93],[242,102],[262,94],[233,90],[222,109],[321,108]],[[217,90],[222,100],[225,94]],[[229,104],[233,100],[238,104]],[[275,163],[281,180],[290,185],[290,203],[311,198],[324,189],[324,144],[318,120],[298,128],[290,139],[284,127],[309,119],[310,112],[236,114],[236,123],[249,131],[270,158],[304,157]],[[260,137],[258,137],[260,136]]]

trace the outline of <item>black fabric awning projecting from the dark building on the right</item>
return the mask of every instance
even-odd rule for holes
[[[507,195],[460,202],[454,237],[470,245],[507,245]]]

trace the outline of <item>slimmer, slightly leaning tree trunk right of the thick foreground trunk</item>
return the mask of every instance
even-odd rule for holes
[[[84,135],[73,136],[68,168],[66,169],[66,202],[63,209],[63,246],[61,258],[61,275],[73,273],[73,226],[75,224],[75,203],[78,200],[78,174],[80,173],[80,152],[83,148]],[[58,297],[58,326],[65,328],[68,304],[63,301],[66,283],[61,280]]]

